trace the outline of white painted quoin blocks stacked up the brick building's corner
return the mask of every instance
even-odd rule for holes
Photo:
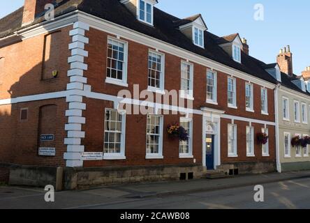
[[[84,85],[87,84],[87,78],[84,76],[84,70],[88,66],[84,63],[84,57],[88,56],[88,52],[84,50],[85,44],[89,43],[89,39],[85,37],[85,31],[89,31],[89,25],[84,22],[75,22],[73,29],[70,31],[72,43],[69,44],[71,56],[68,58],[71,70],[68,70],[70,83],[67,84],[68,90],[84,91]],[[82,125],[86,123],[82,117],[82,111],[86,109],[86,104],[83,103],[83,95],[80,91],[73,91],[66,96],[69,109],[66,111],[68,116],[68,124],[66,125],[67,138],[64,139],[64,144],[67,145],[67,152],[64,153],[66,167],[82,167],[83,161],[81,153],[84,152],[84,146],[81,144],[85,137],[85,132],[82,131]]]

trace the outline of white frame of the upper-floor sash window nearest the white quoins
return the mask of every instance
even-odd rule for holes
[[[108,77],[108,67],[109,67],[108,66],[108,45],[109,45],[109,41],[114,41],[114,42],[124,44],[123,79],[115,79],[112,77]],[[105,83],[128,87],[128,83],[127,83],[127,72],[128,71],[127,71],[127,69],[128,69],[128,42],[126,42],[124,40],[119,40],[117,38],[113,38],[112,36],[108,36],[108,42],[107,42],[107,76],[105,79]]]

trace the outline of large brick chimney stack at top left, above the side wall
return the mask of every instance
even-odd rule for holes
[[[22,15],[22,26],[31,24],[36,17],[45,11],[47,3],[59,3],[63,0],[24,0],[24,13]]]

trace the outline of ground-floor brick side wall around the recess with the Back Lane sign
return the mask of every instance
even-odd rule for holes
[[[56,147],[55,157],[38,156],[39,147],[39,114],[40,107],[45,105],[57,106],[57,119],[54,123]],[[28,121],[20,121],[20,109],[28,107]],[[8,106],[0,105],[1,111],[8,109]],[[12,105],[12,110],[8,116],[0,116],[0,120],[6,125],[1,125],[0,134],[0,162],[14,164],[44,165],[44,166],[64,166],[64,138],[66,131],[64,125],[67,122],[65,112],[67,103],[64,98],[42,100],[36,102],[24,102]],[[47,123],[48,125],[49,123]]]

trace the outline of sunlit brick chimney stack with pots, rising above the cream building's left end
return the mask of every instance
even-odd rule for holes
[[[279,64],[281,72],[293,77],[293,54],[290,52],[289,45],[284,47],[284,49],[280,49],[276,62]]]

